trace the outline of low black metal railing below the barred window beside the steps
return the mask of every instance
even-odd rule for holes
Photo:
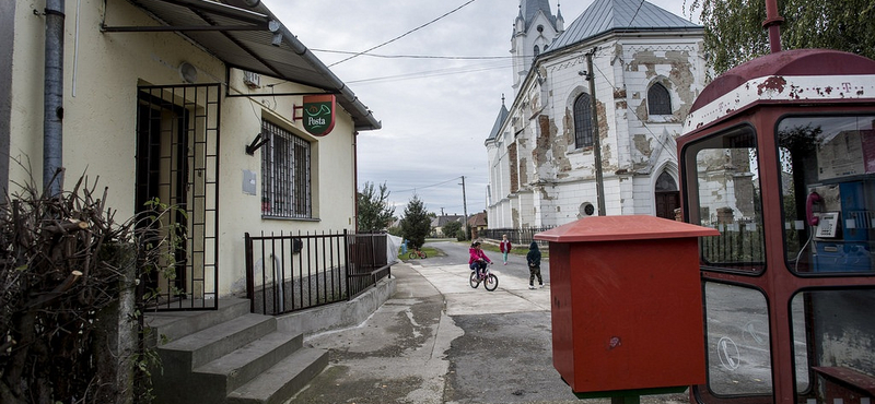
[[[252,312],[282,314],[351,300],[390,274],[386,235],[246,234]]]

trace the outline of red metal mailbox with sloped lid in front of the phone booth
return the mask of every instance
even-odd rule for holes
[[[550,241],[553,367],[575,394],[705,381],[698,237],[715,235],[645,215],[586,217],[535,235]]]

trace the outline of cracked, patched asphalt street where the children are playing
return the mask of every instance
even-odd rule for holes
[[[439,257],[393,265],[395,294],[362,324],[311,335],[328,367],[289,403],[609,403],[578,400],[552,367],[549,265],[528,289],[525,258],[495,264],[499,287],[468,283],[467,246],[434,242]],[[537,283],[537,281],[536,281]],[[641,397],[688,403],[687,394]]]

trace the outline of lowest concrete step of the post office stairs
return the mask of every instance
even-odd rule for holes
[[[226,404],[281,404],[328,366],[328,353],[301,348],[228,395]]]

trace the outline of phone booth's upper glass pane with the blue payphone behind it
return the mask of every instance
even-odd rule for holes
[[[870,115],[779,121],[784,241],[792,271],[873,272],[874,120]]]

